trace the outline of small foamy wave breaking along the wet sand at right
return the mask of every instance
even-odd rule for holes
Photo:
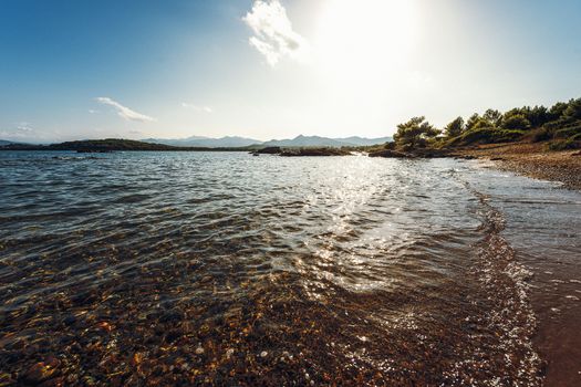
[[[506,227],[505,215],[489,203],[487,195],[474,190],[467,182],[466,186],[479,200],[478,211],[485,232],[485,238],[475,245],[478,260],[473,274],[481,283],[491,306],[486,315],[477,318],[498,337],[496,352],[504,354],[504,359],[496,367],[505,370],[490,375],[485,385],[540,386],[543,364],[532,345],[537,320],[528,295],[532,272],[518,262],[515,250],[501,234]],[[484,354],[485,348],[465,362],[483,365],[492,359]],[[478,380],[478,384],[481,383]]]

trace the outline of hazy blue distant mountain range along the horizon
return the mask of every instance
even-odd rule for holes
[[[342,146],[369,146],[384,144],[393,140],[392,137],[380,137],[380,138],[364,138],[364,137],[345,137],[345,138],[329,138],[319,136],[297,136],[292,139],[272,139],[270,142],[260,142],[258,139],[245,138],[245,137],[221,137],[221,138],[209,138],[193,136],[181,139],[164,139],[164,138],[146,138],[144,143],[152,144],[164,144],[172,146],[193,146],[193,147],[208,147],[208,148],[221,148],[221,147],[248,147],[248,146],[280,146],[280,147],[342,147]]]

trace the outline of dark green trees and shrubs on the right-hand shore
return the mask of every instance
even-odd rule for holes
[[[439,157],[500,143],[543,143],[543,149],[549,151],[581,148],[581,98],[551,107],[516,107],[505,113],[489,108],[466,121],[456,117],[442,129],[424,116],[413,117],[397,125],[392,143],[352,150],[375,157]]]

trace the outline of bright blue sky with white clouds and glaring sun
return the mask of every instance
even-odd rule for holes
[[[0,139],[381,137],[580,69],[579,0],[0,0]]]

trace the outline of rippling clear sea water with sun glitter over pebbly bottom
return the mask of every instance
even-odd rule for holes
[[[581,385],[581,192],[478,160],[0,151],[0,385]]]

